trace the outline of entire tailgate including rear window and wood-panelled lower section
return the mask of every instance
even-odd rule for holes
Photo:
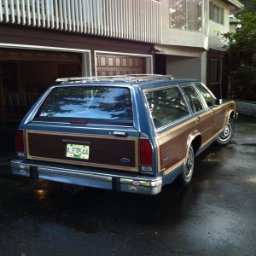
[[[131,89],[108,85],[54,87],[26,124],[26,158],[138,172]]]

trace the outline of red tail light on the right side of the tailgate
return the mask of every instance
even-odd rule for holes
[[[147,139],[140,140],[140,160],[142,172],[153,171],[153,149]]]

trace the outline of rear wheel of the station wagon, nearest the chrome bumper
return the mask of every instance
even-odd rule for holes
[[[183,163],[183,172],[179,175],[179,181],[182,185],[186,186],[190,183],[192,179],[192,175],[194,172],[194,164],[195,164],[195,154],[194,149],[190,145],[189,152],[186,156],[186,159]]]

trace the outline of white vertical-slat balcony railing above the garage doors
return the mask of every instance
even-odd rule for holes
[[[0,22],[160,43],[154,0],[0,0]]]

